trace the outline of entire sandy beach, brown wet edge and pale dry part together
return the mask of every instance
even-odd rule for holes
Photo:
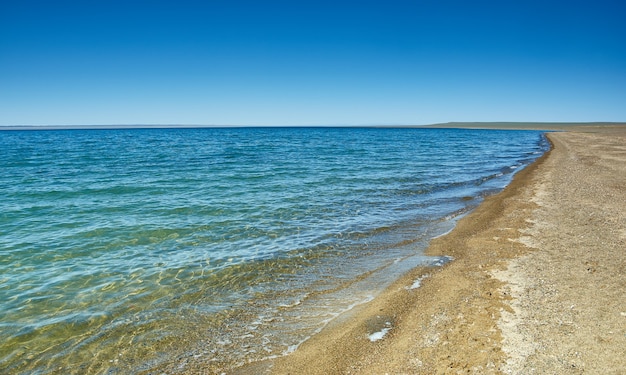
[[[626,126],[568,130],[431,242],[453,262],[414,269],[294,353],[235,373],[623,374]]]

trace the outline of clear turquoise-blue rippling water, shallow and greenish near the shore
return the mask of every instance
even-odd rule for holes
[[[293,350],[547,149],[540,132],[0,132],[2,373]]]

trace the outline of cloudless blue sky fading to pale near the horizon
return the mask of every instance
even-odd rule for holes
[[[626,121],[626,1],[0,1],[0,125]]]

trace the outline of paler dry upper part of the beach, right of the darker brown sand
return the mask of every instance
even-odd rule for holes
[[[515,297],[515,314],[500,320],[504,372],[623,374],[626,138],[551,137],[566,152],[549,158],[537,181],[539,208],[526,232],[536,251],[496,274]]]

